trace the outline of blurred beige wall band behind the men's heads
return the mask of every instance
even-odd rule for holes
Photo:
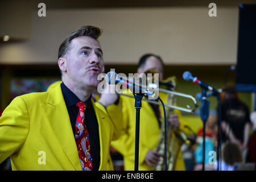
[[[106,64],[137,64],[144,52],[156,52],[172,65],[236,64],[238,7],[220,7],[213,18],[208,10],[208,6],[47,10],[46,17],[32,11],[27,41],[2,47],[0,62],[56,63],[63,38],[91,24],[103,30],[100,43]]]

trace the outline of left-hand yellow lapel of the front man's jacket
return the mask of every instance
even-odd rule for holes
[[[49,91],[46,105],[42,105],[52,131],[59,140],[63,151],[76,170],[81,170],[75,137],[60,84]]]

